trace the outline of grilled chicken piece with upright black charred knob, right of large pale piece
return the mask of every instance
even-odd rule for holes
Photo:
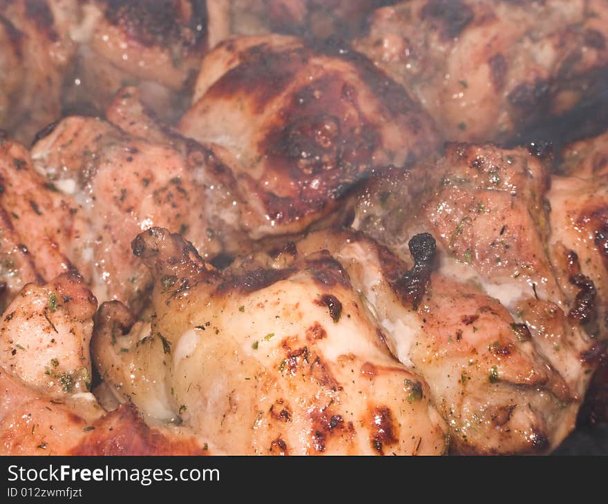
[[[298,243],[301,253],[322,249],[363,295],[392,353],[428,382],[454,452],[542,453],[573,429],[580,400],[529,329],[478,285],[433,271],[428,233],[410,240],[407,262],[361,233]]]

